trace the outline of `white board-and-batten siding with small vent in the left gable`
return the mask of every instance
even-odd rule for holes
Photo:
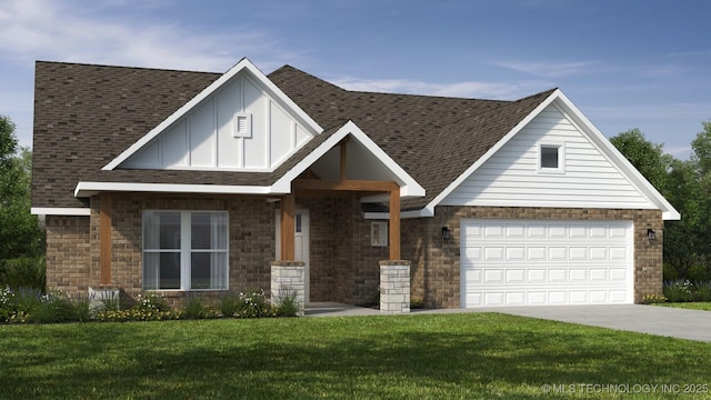
[[[240,72],[121,168],[271,171],[314,134]]]

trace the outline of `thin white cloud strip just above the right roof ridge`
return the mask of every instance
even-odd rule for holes
[[[479,81],[432,83],[405,79],[364,80],[357,78],[339,78],[330,81],[341,88],[357,91],[483,99],[518,99],[552,87],[552,84],[541,81],[511,83]]]

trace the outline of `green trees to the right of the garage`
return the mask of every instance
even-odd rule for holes
[[[681,213],[665,221],[664,280],[711,280],[711,121],[691,141],[689,159],[677,159],[639,129],[610,141]]]

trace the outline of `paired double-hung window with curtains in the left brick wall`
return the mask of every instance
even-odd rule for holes
[[[143,288],[228,289],[227,212],[144,211]]]

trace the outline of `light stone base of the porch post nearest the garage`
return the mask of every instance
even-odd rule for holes
[[[410,312],[410,261],[380,261],[380,312]]]

